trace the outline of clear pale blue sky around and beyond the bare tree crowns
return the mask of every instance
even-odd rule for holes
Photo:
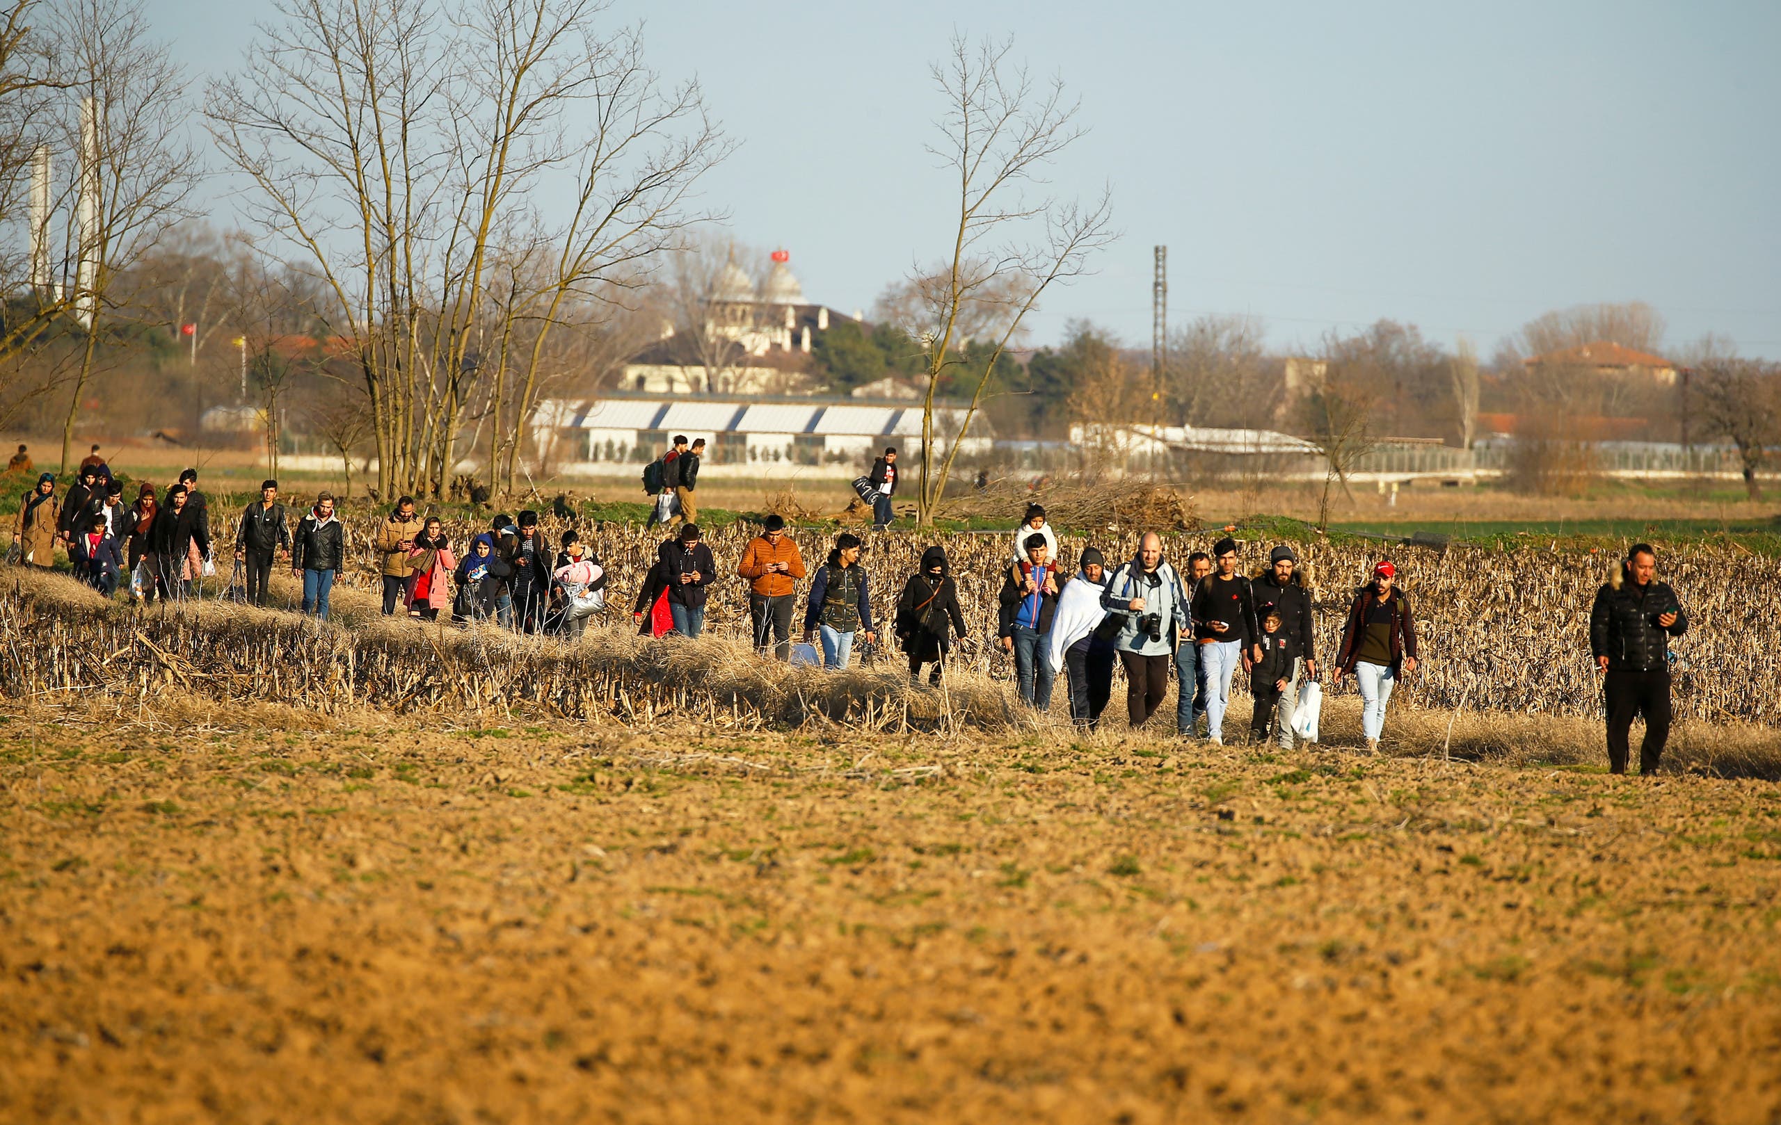
[[[265,0],[148,0],[189,66],[233,66]],[[741,142],[705,199],[793,253],[812,301],[869,306],[946,247],[923,144],[926,68],[956,28],[1081,96],[1067,192],[1110,183],[1124,237],[1053,295],[1035,342],[1086,317],[1151,336],[1261,317],[1272,344],[1393,317],[1489,356],[1549,308],[1644,299],[1672,347],[1704,331],[1781,356],[1781,4],[778,5],[618,0],[652,62],[696,75]],[[223,215],[219,215],[221,219]]]

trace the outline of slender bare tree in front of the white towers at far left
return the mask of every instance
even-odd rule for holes
[[[62,424],[68,472],[75,418],[98,358],[100,328],[116,310],[114,283],[173,224],[201,174],[185,137],[185,77],[150,37],[132,0],[68,0],[50,23],[57,64],[68,75],[62,135],[75,160],[75,208],[68,217],[66,271],[75,317],[85,331]]]

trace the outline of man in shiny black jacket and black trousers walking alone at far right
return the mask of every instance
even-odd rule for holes
[[[1589,611],[1589,652],[1603,673],[1608,710],[1608,769],[1626,773],[1633,717],[1644,716],[1646,741],[1639,773],[1658,771],[1671,724],[1669,639],[1688,630],[1688,616],[1669,582],[1655,582],[1658,555],[1647,543],[1626,552],[1626,561],[1596,591]]]

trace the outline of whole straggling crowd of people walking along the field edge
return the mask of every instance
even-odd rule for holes
[[[632,605],[645,635],[696,639],[725,566],[705,543],[693,491],[702,441],[675,438],[647,473],[661,484],[650,525],[679,527],[661,543]],[[25,456],[25,450],[20,450]],[[14,463],[18,457],[14,457]],[[892,522],[896,450],[887,449],[857,482],[873,495],[873,522]],[[866,488],[869,486],[869,490]],[[210,507],[187,468],[157,497],[141,486],[132,504],[98,456],[80,465],[77,482],[57,497],[55,475],[41,473],[20,497],[14,520],[16,561],[48,568],[61,546],[75,575],[112,596],[119,586],[139,602],[180,600],[192,582],[216,575]],[[223,532],[224,541],[230,532]],[[420,518],[403,497],[372,536],[385,616],[426,621],[492,621],[527,634],[581,637],[606,607],[607,571],[575,530],[552,546],[538,513],[499,514],[470,538],[459,555],[436,516]],[[785,520],[768,516],[734,568],[748,584],[753,648],[778,660],[846,669],[857,652],[874,652],[885,614],[874,605],[871,575],[860,561],[866,543],[853,532],[835,538],[828,557],[807,568]],[[230,587],[265,605],[278,557],[301,582],[301,612],[328,618],[329,593],[347,564],[347,539],[335,498],[322,491],[290,523],[276,481],[264,481],[233,523]],[[1603,675],[1610,767],[1630,765],[1628,732],[1644,717],[1640,773],[1655,773],[1671,723],[1669,637],[1687,630],[1674,589],[1655,580],[1656,552],[1637,545],[1601,587],[1590,614],[1590,655]],[[798,587],[809,579],[800,639]],[[908,662],[912,682],[944,682],[947,660],[969,628],[958,586],[940,546],[921,554],[885,625]],[[1029,506],[1013,532],[1001,573],[996,641],[1012,657],[1021,698],[1049,710],[1058,676],[1065,678],[1070,721],[1097,728],[1113,696],[1113,669],[1126,676],[1126,719],[1145,728],[1175,687],[1175,730],[1224,742],[1231,689],[1250,678],[1254,707],[1248,737],[1293,749],[1302,737],[1300,707],[1320,682],[1316,603],[1289,545],[1277,545],[1254,575],[1241,573],[1240,545],[1225,536],[1211,554],[1191,552],[1183,568],[1165,557],[1163,538],[1147,532],[1131,559],[1110,562],[1094,545],[1076,566],[1065,564],[1042,506]],[[1396,684],[1419,660],[1416,618],[1396,566],[1380,559],[1368,582],[1346,598],[1341,641],[1332,660],[1336,682],[1354,676],[1361,696],[1362,737],[1377,749]],[[931,666],[931,668],[930,668]],[[1174,671],[1174,675],[1172,675]]]

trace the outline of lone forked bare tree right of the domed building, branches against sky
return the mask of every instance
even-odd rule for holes
[[[955,178],[956,221],[947,231],[944,265],[915,272],[915,278],[933,279],[919,285],[928,301],[926,315],[901,326],[926,352],[915,497],[921,525],[933,523],[996,363],[1021,333],[1026,315],[1053,283],[1083,274],[1088,258],[1117,237],[1106,194],[1088,205],[1022,194],[1045,183],[1045,169],[1083,135],[1083,126],[1076,121],[1078,105],[1065,100],[1063,84],[1037,82],[1008,59],[1012,46],[1012,41],[971,46],[955,36],[947,57],[931,68],[946,112],[939,121],[940,139],[928,151]],[[967,363],[955,349],[980,313],[985,326],[980,338],[994,344]],[[933,424],[942,379],[974,390],[958,433],[951,434],[937,463]]]

